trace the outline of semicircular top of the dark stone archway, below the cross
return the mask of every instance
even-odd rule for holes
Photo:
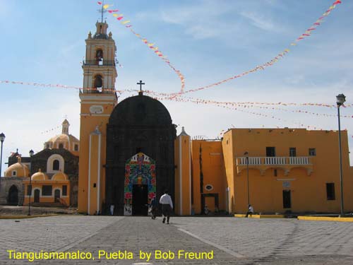
[[[114,108],[109,125],[164,126],[172,124],[172,118],[162,102],[145,95],[126,98]]]

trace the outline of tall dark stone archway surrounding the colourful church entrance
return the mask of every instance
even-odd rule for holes
[[[115,213],[124,215],[126,160],[145,153],[155,160],[156,189],[164,189],[174,201],[174,140],[177,131],[164,105],[145,95],[126,98],[114,108],[107,124],[105,203],[114,204]]]

